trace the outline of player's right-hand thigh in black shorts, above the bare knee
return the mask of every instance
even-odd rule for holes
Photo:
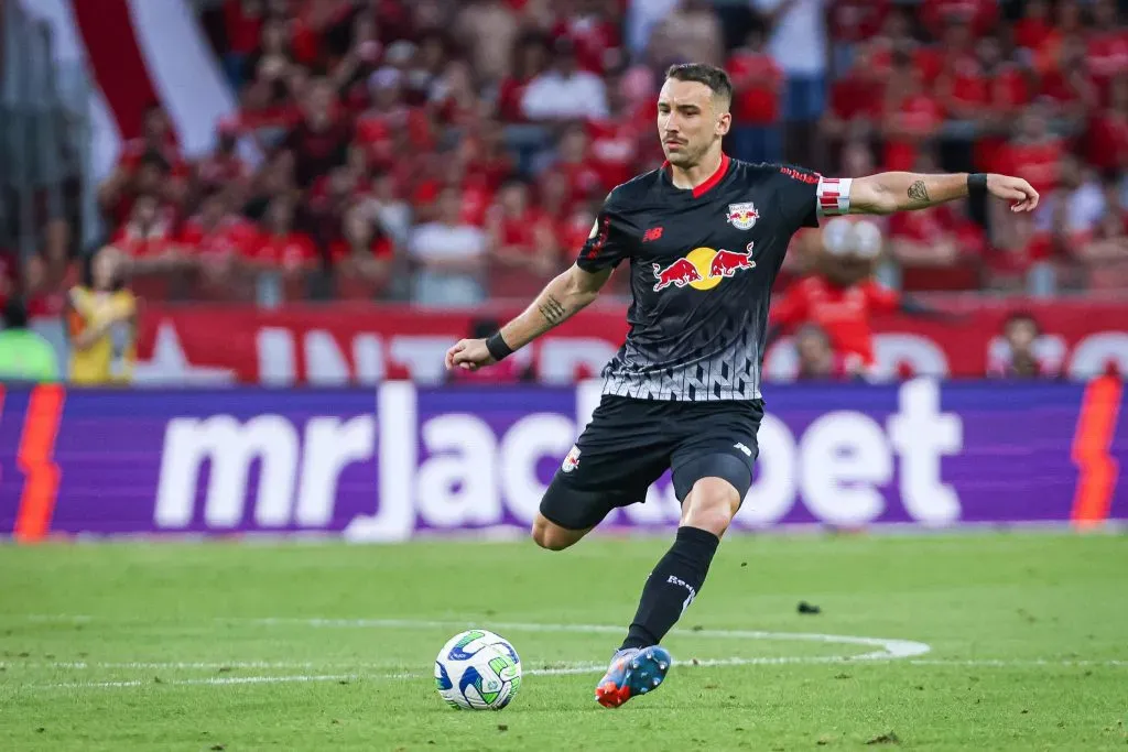
[[[686,433],[671,457],[673,490],[685,502],[703,478],[720,478],[737,492],[738,505],[752,485],[759,457],[760,400],[711,404],[720,407],[686,421]]]

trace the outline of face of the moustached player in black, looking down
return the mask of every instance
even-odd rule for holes
[[[658,95],[658,138],[676,167],[698,163],[731,123],[728,108],[704,83],[667,79]]]

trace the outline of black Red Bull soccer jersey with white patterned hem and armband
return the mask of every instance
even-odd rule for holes
[[[666,167],[611,191],[576,260],[587,272],[631,263],[631,328],[603,369],[603,393],[759,398],[772,283],[791,237],[845,207],[837,184],[725,156],[691,191]]]

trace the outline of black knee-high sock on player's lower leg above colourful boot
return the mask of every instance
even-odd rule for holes
[[[649,647],[666,637],[697,596],[720,542],[707,530],[678,528],[673,546],[646,578],[623,647]]]

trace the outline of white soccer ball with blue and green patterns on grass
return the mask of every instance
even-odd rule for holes
[[[521,688],[521,658],[508,640],[492,631],[464,631],[439,651],[434,684],[452,708],[501,710]]]

